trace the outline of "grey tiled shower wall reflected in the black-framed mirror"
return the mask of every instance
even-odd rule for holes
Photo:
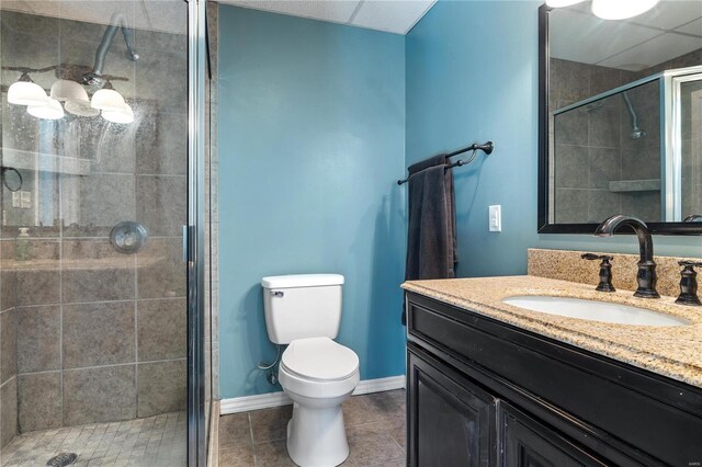
[[[551,60],[550,109],[561,109],[597,93],[650,76],[663,69],[702,64],[702,50],[660,64],[638,73]],[[643,138],[630,137],[632,122],[621,95],[556,116],[552,127],[555,150],[556,223],[599,223],[627,213],[645,220],[660,219],[660,190],[616,192],[612,181],[660,180],[660,112],[657,83],[629,91],[647,132]],[[555,135],[553,130],[555,129]],[[555,136],[555,137],[554,137]],[[553,185],[553,184],[552,184]]]

